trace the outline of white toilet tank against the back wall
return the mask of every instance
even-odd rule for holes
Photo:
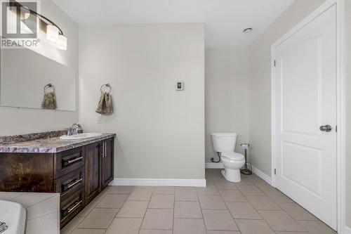
[[[216,152],[234,152],[237,134],[214,132],[211,134],[213,149]]]

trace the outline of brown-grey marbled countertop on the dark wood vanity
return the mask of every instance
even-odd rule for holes
[[[36,152],[55,153],[88,145],[107,138],[112,138],[116,134],[102,134],[95,138],[78,140],[61,140],[60,137],[39,138],[32,141],[0,143],[0,152]]]

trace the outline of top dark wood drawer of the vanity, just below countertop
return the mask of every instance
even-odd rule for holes
[[[74,148],[56,154],[56,177],[59,178],[84,166],[84,148]]]

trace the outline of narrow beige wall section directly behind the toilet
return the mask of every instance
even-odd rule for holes
[[[247,48],[206,48],[206,162],[214,154],[211,132],[237,133],[237,152],[249,140],[248,62]]]

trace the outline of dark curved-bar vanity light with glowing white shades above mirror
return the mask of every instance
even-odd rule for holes
[[[63,34],[62,30],[55,22],[49,20],[44,15],[41,15],[17,1],[10,1],[11,11],[20,16],[20,20],[30,20],[30,16],[33,15],[39,20],[39,28],[41,31],[46,33],[46,39],[56,43],[59,49],[67,50],[67,37]]]

